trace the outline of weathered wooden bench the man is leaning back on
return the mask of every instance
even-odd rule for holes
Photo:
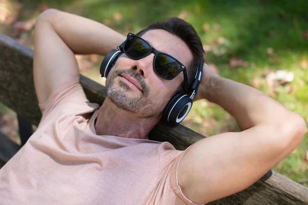
[[[34,90],[32,61],[33,51],[30,48],[0,33],[0,102],[33,125],[38,125],[41,112]],[[106,97],[104,86],[83,75],[80,76],[80,83],[88,99],[102,105]],[[152,140],[169,141],[176,149],[184,150],[205,136],[181,125],[170,128],[159,123],[149,137]],[[0,134],[0,166],[19,148]],[[253,186],[208,204],[308,204],[308,188],[270,170]]]

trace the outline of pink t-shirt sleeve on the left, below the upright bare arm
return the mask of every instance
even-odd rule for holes
[[[49,95],[46,103],[38,104],[42,118],[37,128],[59,119],[63,115],[85,115],[99,108],[98,104],[89,103],[79,76],[55,88]]]

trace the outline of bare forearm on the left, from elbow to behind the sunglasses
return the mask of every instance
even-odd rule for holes
[[[82,16],[49,9],[38,17],[47,20],[75,54],[106,55],[117,48],[125,36]]]

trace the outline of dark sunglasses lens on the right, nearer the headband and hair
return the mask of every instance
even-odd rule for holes
[[[172,57],[158,54],[155,59],[155,71],[165,79],[174,78],[181,69],[180,64]]]

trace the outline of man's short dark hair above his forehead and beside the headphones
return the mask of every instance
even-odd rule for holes
[[[193,58],[192,61],[190,61],[188,68],[186,69],[188,76],[188,85],[190,87],[201,61],[204,62],[204,50],[197,31],[189,23],[185,22],[185,20],[178,17],[171,17],[166,20],[162,20],[149,25],[138,35],[141,36],[145,32],[155,29],[162,29],[178,36],[185,42],[185,44],[190,49]]]

